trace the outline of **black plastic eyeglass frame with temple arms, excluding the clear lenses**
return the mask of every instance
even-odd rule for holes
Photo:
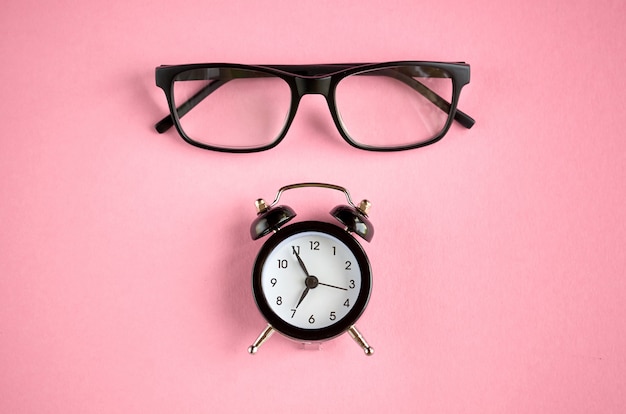
[[[441,110],[448,113],[448,118],[444,127],[439,134],[435,137],[421,141],[415,144],[394,146],[394,147],[378,147],[363,145],[355,141],[350,134],[345,130],[339,117],[339,112],[335,103],[335,91],[336,87],[344,78],[360,73],[373,70],[380,70],[385,68],[397,68],[405,66],[423,66],[433,69],[438,69],[449,74],[452,79],[452,100],[447,102],[445,99],[438,96],[436,93],[428,89],[426,86],[415,81],[412,81],[422,85],[420,88],[425,90],[420,91],[424,96],[437,105]],[[178,75],[183,72],[197,70],[197,69],[214,69],[214,68],[230,68],[230,69],[242,69],[247,71],[255,71],[260,73],[266,73],[268,76],[275,76],[283,79],[291,89],[291,105],[289,113],[285,120],[283,129],[278,136],[270,144],[252,147],[252,148],[227,148],[218,147],[214,145],[208,145],[190,138],[183,130],[180,123],[180,116],[187,113],[195,105],[200,103],[202,99],[206,98],[210,93],[215,91],[218,87],[223,85],[226,81],[214,81],[207,87],[196,94],[196,96],[190,98],[187,102],[184,102],[178,108],[174,101],[174,81]],[[398,75],[393,75],[394,77]],[[155,128],[157,132],[163,133],[170,129],[172,126],[176,127],[179,135],[189,144],[199,148],[219,151],[219,152],[231,152],[231,153],[252,153],[265,151],[274,148],[278,145],[287,135],[287,131],[291,126],[291,123],[295,119],[300,100],[307,94],[321,94],[326,99],[331,116],[335,123],[337,130],[343,139],[351,146],[368,151],[379,152],[391,152],[391,151],[404,151],[426,145],[433,144],[441,140],[452,125],[452,121],[459,122],[465,128],[471,128],[475,121],[472,117],[457,109],[459,96],[463,86],[467,85],[470,81],[470,66],[464,62],[447,63],[447,62],[427,62],[427,61],[394,61],[384,63],[356,63],[356,64],[322,64],[322,65],[244,65],[236,63],[197,63],[186,65],[161,65],[155,69],[156,85],[163,89],[168,102],[170,115],[159,121]],[[402,80],[402,79],[399,79]],[[416,89],[417,90],[417,89]],[[182,115],[179,116],[179,112]]]

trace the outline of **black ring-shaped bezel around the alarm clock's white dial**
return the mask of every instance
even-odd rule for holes
[[[305,232],[319,232],[337,238],[354,254],[361,270],[361,288],[352,309],[342,319],[324,328],[304,329],[291,325],[270,308],[261,285],[261,272],[270,253],[285,239]],[[299,340],[319,342],[341,335],[361,317],[372,291],[372,269],[363,247],[346,230],[322,221],[302,221],[279,229],[261,247],[252,271],[252,293],[259,311],[274,329],[283,335]]]

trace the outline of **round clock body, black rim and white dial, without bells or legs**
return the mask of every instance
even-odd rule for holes
[[[278,331],[301,340],[337,336],[359,318],[371,271],[359,243],[343,229],[302,222],[274,234],[259,252],[253,291]]]

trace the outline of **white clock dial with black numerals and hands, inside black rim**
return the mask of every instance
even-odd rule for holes
[[[261,268],[261,289],[271,311],[284,322],[321,329],[341,321],[357,303],[361,270],[344,242],[305,231],[269,252]]]

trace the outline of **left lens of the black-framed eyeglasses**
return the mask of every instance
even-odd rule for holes
[[[189,138],[229,149],[270,145],[285,126],[291,106],[287,82],[245,69],[183,72],[174,79],[173,95]],[[182,113],[181,107],[189,102],[193,107]]]

